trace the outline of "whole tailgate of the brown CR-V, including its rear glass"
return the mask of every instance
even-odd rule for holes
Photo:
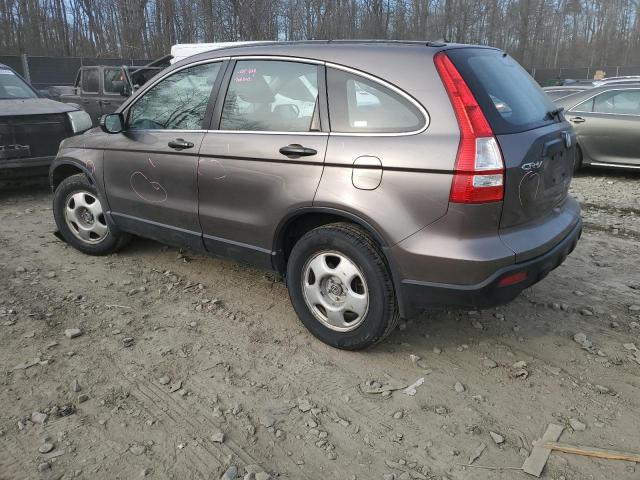
[[[500,228],[536,222],[567,197],[575,134],[529,74],[504,52],[460,48],[447,55],[478,100],[505,163]]]

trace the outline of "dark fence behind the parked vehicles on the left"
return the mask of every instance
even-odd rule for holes
[[[139,66],[150,60],[133,58],[36,57],[0,55],[0,63],[13,68],[38,90],[53,85],[73,85],[80,67],[87,65]]]

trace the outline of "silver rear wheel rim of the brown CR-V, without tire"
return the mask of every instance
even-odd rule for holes
[[[369,311],[369,289],[360,268],[334,250],[314,254],[302,269],[302,293],[316,320],[337,332],[350,332]]]

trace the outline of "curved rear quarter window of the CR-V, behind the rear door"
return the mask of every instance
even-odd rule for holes
[[[377,82],[329,68],[327,86],[334,132],[401,133],[424,126],[424,116],[415,105]]]

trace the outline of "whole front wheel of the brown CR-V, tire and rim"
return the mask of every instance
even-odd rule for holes
[[[58,185],[53,216],[62,237],[83,253],[107,255],[129,239],[127,234],[111,231],[98,192],[84,174],[67,177]]]

